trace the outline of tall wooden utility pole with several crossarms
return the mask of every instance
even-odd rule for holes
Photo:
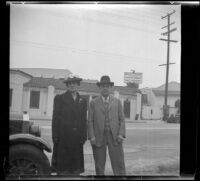
[[[175,10],[173,10],[173,12],[171,13],[167,13],[166,16],[162,16],[161,19],[164,19],[164,18],[167,18],[167,25],[162,27],[162,29],[164,28],[167,28],[167,32],[165,33],[161,33],[161,35],[163,36],[166,36],[167,35],[167,39],[163,39],[163,38],[160,38],[159,40],[162,40],[162,41],[166,41],[167,42],[167,64],[162,64],[162,65],[159,65],[159,66],[166,66],[166,83],[165,83],[165,102],[164,102],[164,106],[163,106],[163,111],[164,111],[164,117],[163,117],[163,120],[166,121],[167,117],[168,117],[168,114],[169,114],[169,109],[168,109],[168,106],[167,106],[167,97],[168,97],[168,78],[169,78],[169,65],[170,64],[175,64],[175,63],[169,63],[169,52],[170,52],[170,43],[171,42],[178,42],[176,40],[171,40],[170,39],[170,33],[176,31],[177,29],[176,28],[173,28],[173,29],[170,29],[170,26],[175,24],[175,22],[172,22],[170,23],[170,16],[172,14],[175,13]]]

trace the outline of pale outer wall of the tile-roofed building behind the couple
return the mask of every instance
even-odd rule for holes
[[[31,120],[37,120],[37,119],[46,119],[51,120],[52,114],[53,114],[53,100],[55,95],[62,94],[66,90],[55,90],[53,86],[49,86],[47,88],[28,88],[24,87],[23,84],[21,85],[21,95],[18,94],[18,99],[21,99],[21,101],[18,100],[18,103],[21,105],[20,113],[24,111],[27,111],[29,114],[29,118]],[[30,92],[31,91],[40,91],[40,102],[39,102],[39,108],[30,108]],[[88,93],[88,92],[79,92],[80,95],[89,95],[89,100],[91,100],[92,96],[98,96],[97,93]],[[114,96],[118,97],[122,103],[122,106],[124,104],[124,101],[128,99],[130,101],[130,118],[126,118],[127,121],[134,121],[136,113],[140,111],[139,103],[141,103],[141,100],[138,101],[137,96],[127,96],[127,95],[119,95],[117,93],[114,94]],[[140,99],[141,97],[139,97]],[[13,103],[14,104],[14,103]],[[16,103],[15,103],[16,105]],[[138,107],[139,106],[139,107]],[[18,106],[19,107],[19,106]]]

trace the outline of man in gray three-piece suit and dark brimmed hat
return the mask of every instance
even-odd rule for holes
[[[125,175],[125,121],[122,105],[120,100],[110,94],[114,83],[109,76],[102,76],[97,85],[101,95],[91,101],[88,116],[88,137],[93,148],[96,174],[105,174],[108,147],[114,175]]]

